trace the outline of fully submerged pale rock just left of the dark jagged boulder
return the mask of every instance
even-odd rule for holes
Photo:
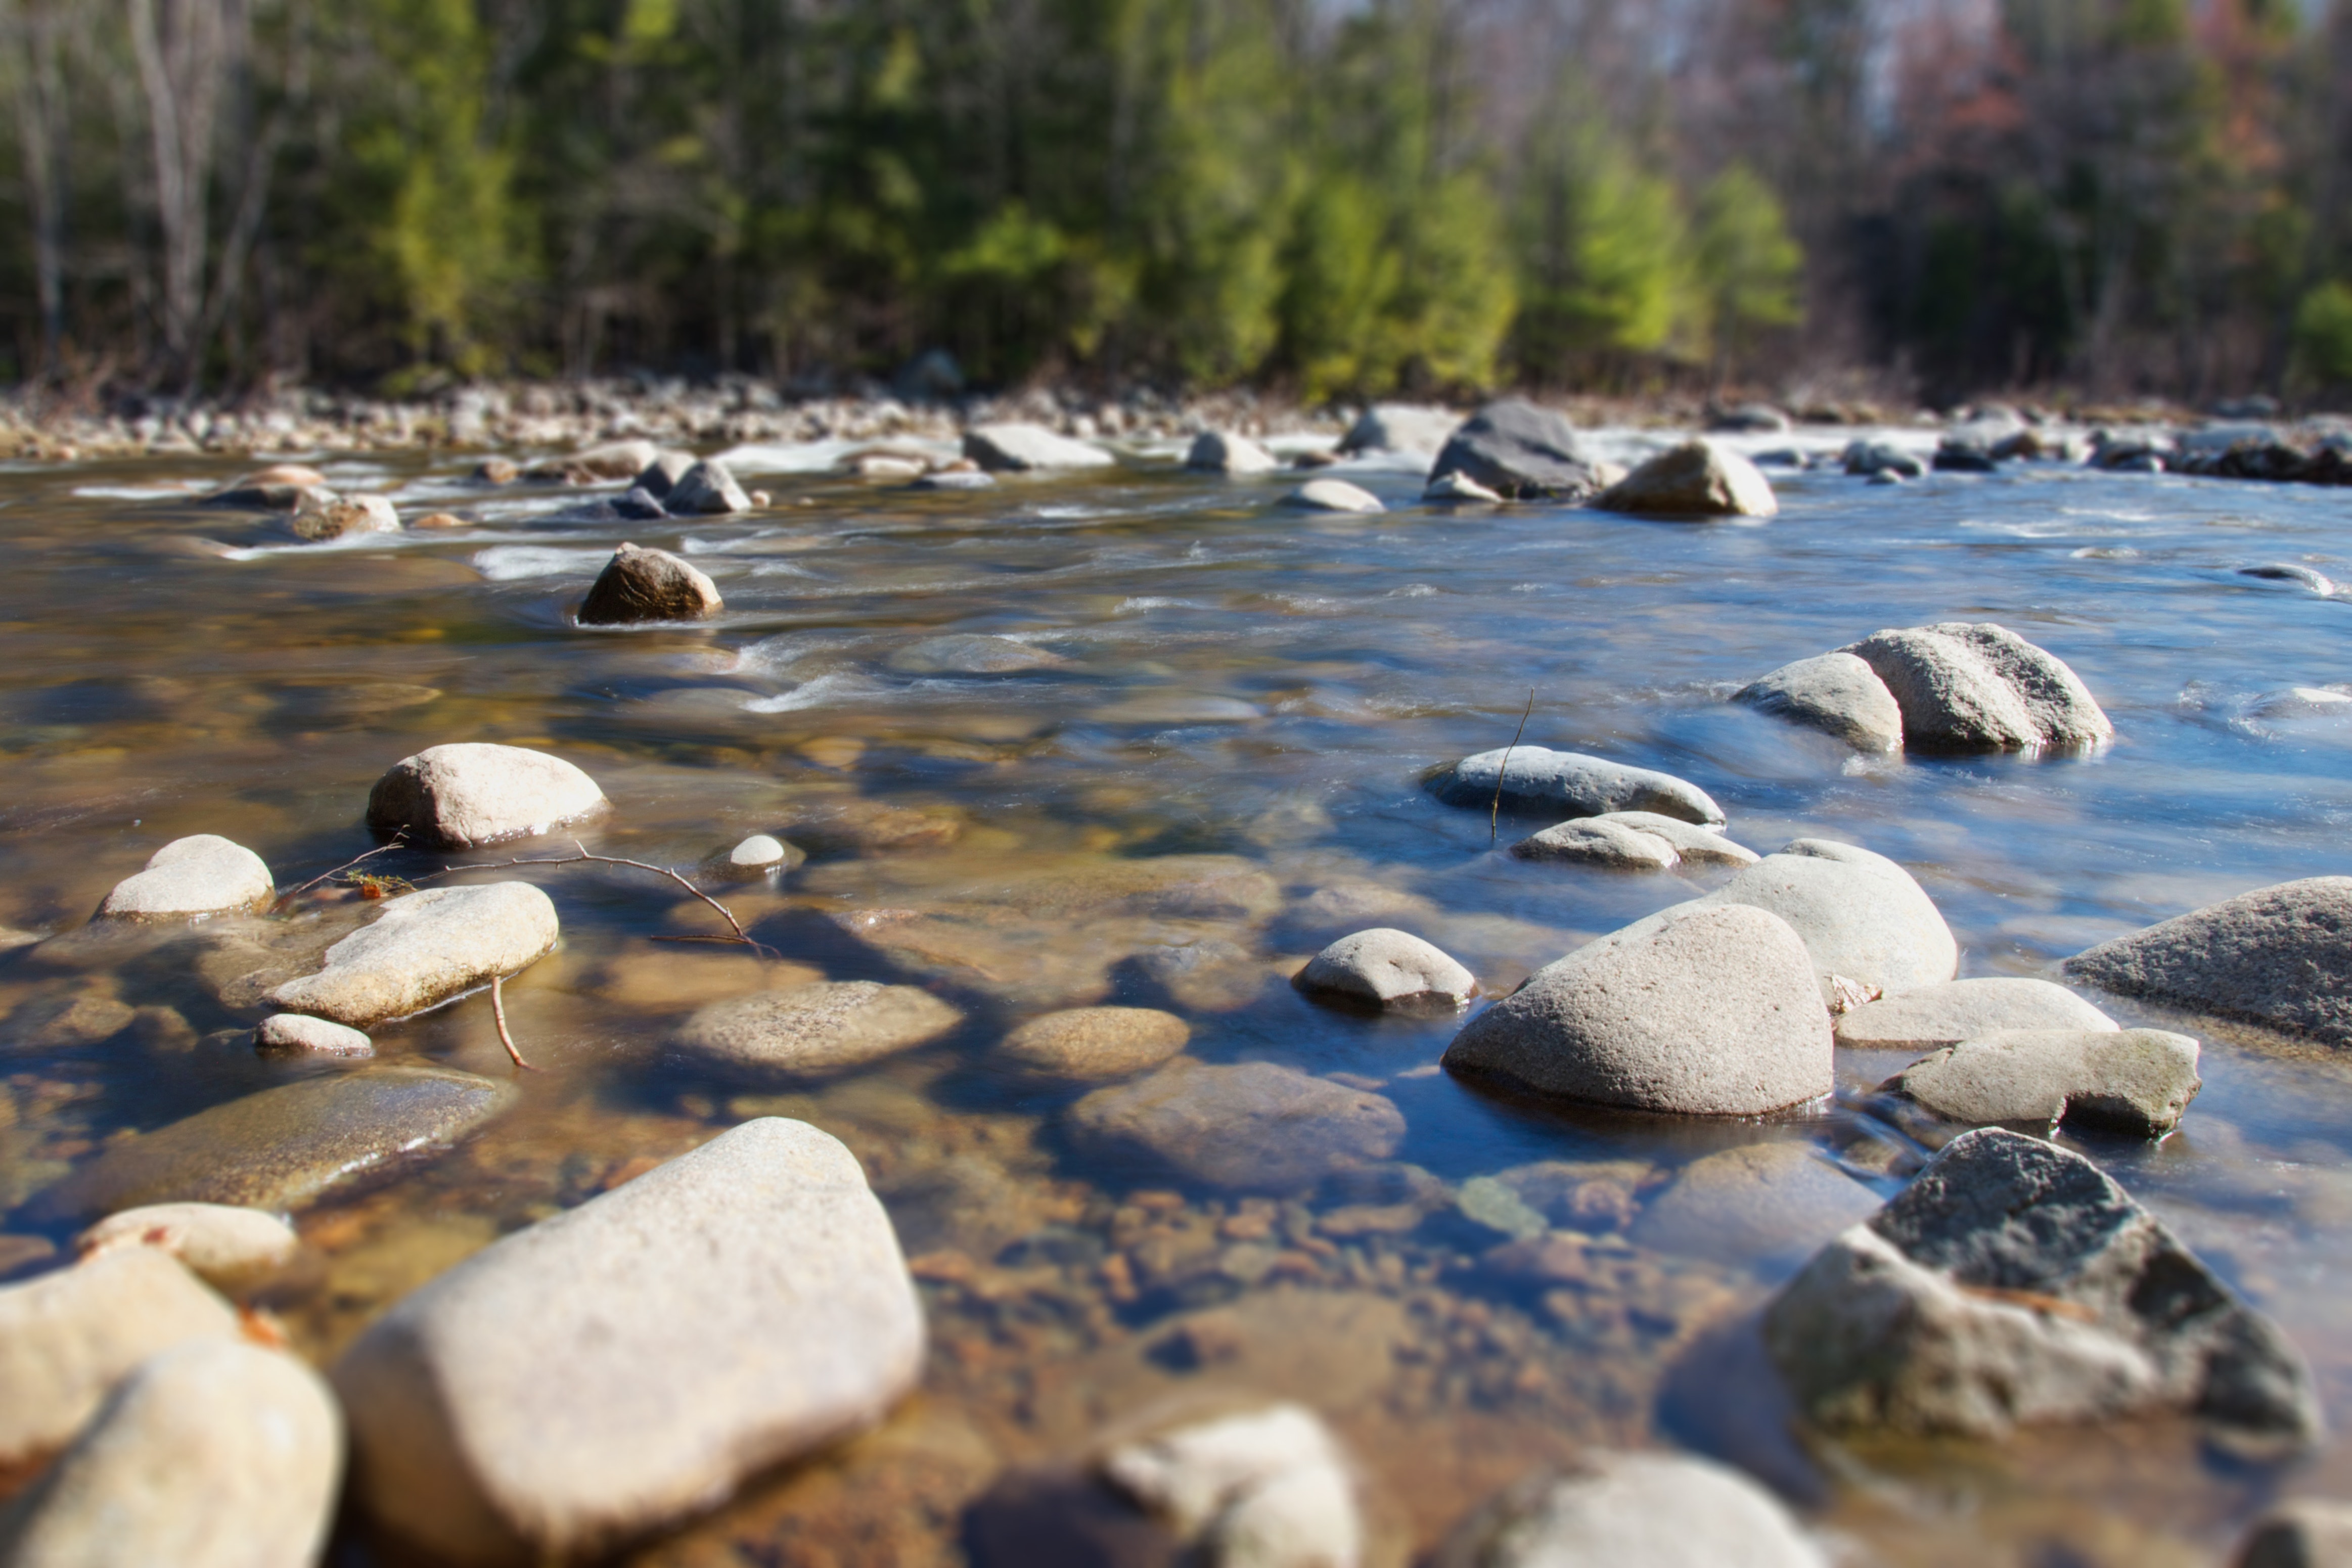
[[[1752,1143],[1684,1166],[1628,1237],[1684,1258],[1788,1267],[1877,1211],[1879,1194],[1813,1145]]]

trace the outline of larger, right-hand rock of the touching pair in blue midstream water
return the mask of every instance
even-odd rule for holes
[[[2013,752],[2114,738],[2074,670],[1992,621],[1872,632],[1842,651],[1886,682],[1912,750]]]

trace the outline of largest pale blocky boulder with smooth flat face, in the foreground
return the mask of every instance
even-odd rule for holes
[[[334,1387],[376,1519],[435,1561],[555,1561],[870,1427],[922,1349],[858,1161],[764,1117],[407,1295]]]

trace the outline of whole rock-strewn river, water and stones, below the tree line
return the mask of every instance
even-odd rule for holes
[[[2340,1537],[2328,430],[501,397],[0,473],[0,1563]]]

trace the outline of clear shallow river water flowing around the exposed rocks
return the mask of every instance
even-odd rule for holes
[[[1905,1150],[1837,1107],[1717,1126],[1501,1103],[1435,1070],[1458,1020],[1331,1011],[1284,983],[1334,936],[1388,924],[1498,994],[1703,891],[1512,860],[1498,844],[1543,820],[1505,813],[1491,839],[1484,811],[1421,790],[1432,764],[1508,743],[1529,698],[1526,743],[1679,773],[1752,849],[1818,835],[1893,856],[1950,919],[1964,976],[2049,976],[2216,898],[2352,872],[2352,701],[2328,691],[2352,679],[2352,604],[2237,576],[2300,562],[2352,578],[2352,494],[1778,470],[1778,520],[1689,527],[1425,508],[1416,473],[1378,463],[1343,473],[1388,515],[1322,517],[1275,505],[1289,480],[1164,456],[978,494],[816,473],[830,456],[739,454],[774,508],[659,524],[564,522],[579,491],[475,491],[449,461],[329,461],[336,484],[381,487],[409,515],[477,522],[336,545],[195,505],[230,473],[209,458],[0,473],[0,924],[78,926],[193,832],[256,849],[292,889],[369,849],[374,778],[447,741],[588,769],[616,806],[581,835],[600,853],[691,867],[748,832],[811,851],[779,884],[713,884],[781,957],[656,940],[724,926],[626,867],[499,872],[562,912],[560,950],[506,997],[541,1072],[459,1150],[299,1215],[322,1262],[275,1309],[303,1354],[332,1356],[501,1232],[743,1117],[795,1114],[856,1150],[915,1258],[924,1392],[642,1561],[955,1561],[971,1500],[1007,1467],[1080,1453],[1197,1385],[1319,1408],[1374,1481],[1392,1561],[1583,1443],[1726,1453],[1856,1561],[1886,1563],[2211,1561],[2277,1490],[2352,1488],[2352,1448],[2249,1469],[2164,1422],[1797,1443],[1724,1324],[1804,1248],[1769,1225],[1675,1241],[1642,1208],[1740,1143],[1811,1143],[1879,1192]],[[691,557],[727,611],[576,630],[569,609],[621,538]],[[2072,663],[2117,743],[1860,759],[1724,701],[1792,658],[1947,618],[1999,621]],[[132,1128],[322,1070],[256,1060],[252,1013],[169,952],[0,957],[0,1208]],[[920,983],[967,1023],[821,1084],[729,1081],[663,1051],[703,1001],[821,976]],[[59,1032],[75,1001],[132,1023]],[[1063,1119],[1087,1086],[1040,1086],[990,1051],[1028,1016],[1096,1001],[1185,1016],[1211,1063],[1376,1088],[1418,1173],[1237,1194],[1089,1159]],[[2317,1053],[2192,1032],[2206,1086],[2183,1128],[2084,1147],[2288,1328],[2340,1425],[2352,1081]],[[376,1039],[386,1058],[508,1074],[482,997]],[[1842,1084],[1903,1060],[1842,1051]],[[1583,1220],[1576,1279],[1529,1281],[1484,1262],[1505,1234],[1482,1204],[1494,1185],[1470,1182],[1548,1159],[1616,1161],[1621,1208]],[[26,1213],[0,1222],[0,1267],[19,1274],[49,1267],[33,1237],[71,1234]],[[339,1561],[395,1561],[358,1523],[341,1542]]]

